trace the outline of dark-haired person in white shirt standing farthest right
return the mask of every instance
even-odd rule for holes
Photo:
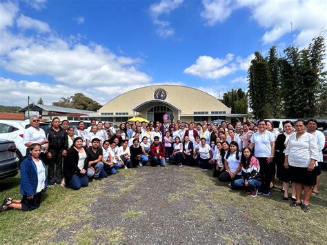
[[[325,135],[321,131],[317,130],[317,120],[315,119],[308,119],[306,123],[306,132],[312,134],[315,136],[315,139],[317,140],[317,145],[318,145],[318,150],[319,150],[319,159],[315,163],[315,172],[317,174],[317,184],[313,186],[313,195],[317,195],[318,192],[318,185],[320,183],[320,175],[321,175],[321,170],[320,166],[318,164],[319,161],[324,161],[323,160],[323,154],[322,150],[325,147]]]

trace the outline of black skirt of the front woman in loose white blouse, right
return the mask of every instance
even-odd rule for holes
[[[315,171],[308,171],[308,167],[290,166],[290,181],[306,186],[315,186],[317,184],[317,175]]]

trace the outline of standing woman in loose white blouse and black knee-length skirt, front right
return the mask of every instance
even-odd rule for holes
[[[301,206],[304,211],[309,210],[309,199],[312,186],[317,182],[315,175],[315,161],[319,159],[319,151],[315,136],[306,132],[303,120],[295,122],[297,133],[290,136],[286,150],[284,167],[290,168],[290,180],[295,182],[297,200],[291,206]],[[301,193],[304,190],[304,200]]]

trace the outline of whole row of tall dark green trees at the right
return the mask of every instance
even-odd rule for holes
[[[289,46],[284,57],[270,48],[264,59],[255,52],[248,70],[250,107],[257,118],[308,118],[326,115],[324,37],[315,37],[308,48]]]

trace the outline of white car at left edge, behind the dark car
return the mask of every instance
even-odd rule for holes
[[[30,121],[14,121],[14,120],[0,120],[0,139],[7,139],[14,141],[17,147],[17,157],[20,161],[26,156],[27,147],[24,144],[25,129],[30,127]],[[40,128],[46,131],[50,128],[50,124],[40,123]]]

